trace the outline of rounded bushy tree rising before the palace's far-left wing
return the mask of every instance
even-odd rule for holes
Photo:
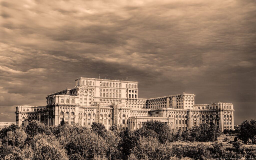
[[[42,133],[49,135],[51,134],[51,130],[48,125],[33,120],[26,126],[26,133],[30,136],[35,136]]]

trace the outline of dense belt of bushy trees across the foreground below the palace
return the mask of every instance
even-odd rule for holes
[[[106,130],[100,123],[93,123],[89,129],[79,124],[47,126],[38,121],[31,121],[26,129],[11,125],[0,131],[0,158],[167,160],[181,157],[253,157],[245,149],[241,149],[238,142],[234,142],[236,146],[229,150],[225,150],[222,143],[201,143],[215,142],[220,134],[215,124],[205,123],[182,132],[153,120],[147,121],[136,131],[117,125]]]

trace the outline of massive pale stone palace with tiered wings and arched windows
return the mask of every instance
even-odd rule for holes
[[[161,121],[182,131],[213,122],[223,132],[234,129],[232,103],[195,104],[195,94],[139,98],[138,82],[78,78],[74,88],[47,95],[46,106],[17,106],[16,124],[26,127],[32,120],[47,125],[65,123],[91,127],[98,122],[109,129],[117,124],[139,129],[148,120]]]

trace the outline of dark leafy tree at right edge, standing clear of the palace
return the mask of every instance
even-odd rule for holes
[[[251,140],[252,144],[256,144],[256,121],[243,121],[240,125],[240,135],[238,135],[238,138],[244,143]]]

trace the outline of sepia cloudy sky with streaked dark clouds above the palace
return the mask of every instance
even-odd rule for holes
[[[137,81],[138,98],[193,93],[256,119],[254,0],[0,0],[0,122],[79,77]]]

